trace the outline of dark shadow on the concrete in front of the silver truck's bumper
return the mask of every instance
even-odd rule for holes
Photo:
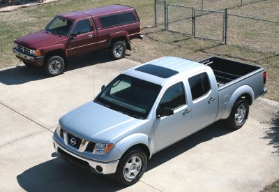
[[[17,175],[26,191],[118,191],[123,189],[113,179],[94,175],[62,158],[54,158]]]

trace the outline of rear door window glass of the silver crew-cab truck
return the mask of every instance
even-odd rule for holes
[[[209,77],[205,72],[190,77],[188,82],[190,84],[193,101],[201,96],[206,95],[211,89],[209,83]]]

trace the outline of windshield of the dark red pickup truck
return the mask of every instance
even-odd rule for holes
[[[66,20],[61,17],[54,17],[50,24],[45,27],[45,30],[51,32],[52,34],[67,36],[73,23],[74,22],[71,20]]]

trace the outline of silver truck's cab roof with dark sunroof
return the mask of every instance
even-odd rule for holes
[[[163,86],[167,82],[198,73],[206,68],[208,66],[188,59],[163,57],[131,68],[123,74]]]

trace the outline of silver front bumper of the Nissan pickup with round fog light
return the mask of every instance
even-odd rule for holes
[[[116,172],[119,160],[112,162],[93,161],[89,158],[84,158],[68,151],[68,149],[62,147],[54,137],[52,138],[52,140],[57,154],[65,158],[67,161],[70,161],[71,163],[77,163],[77,165],[82,165],[83,167],[89,167],[91,171],[100,175],[112,175]]]

